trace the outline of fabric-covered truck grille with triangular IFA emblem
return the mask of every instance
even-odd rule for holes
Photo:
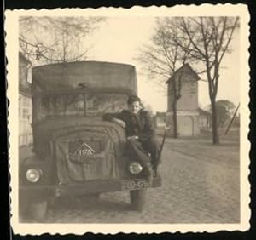
[[[56,165],[62,183],[117,177],[113,140],[107,134],[79,132],[55,142]]]

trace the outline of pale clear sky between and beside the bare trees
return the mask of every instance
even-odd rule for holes
[[[153,111],[166,111],[166,94],[152,83],[142,71],[142,65],[135,60],[138,48],[148,43],[154,33],[153,17],[111,17],[102,23],[99,29],[84,42],[92,46],[88,60],[102,60],[126,63],[136,66],[138,95]],[[239,103],[239,53],[240,37],[236,32],[230,44],[231,54],[225,54],[220,70],[218,100],[230,100]],[[206,79],[206,78],[205,78]],[[199,82],[199,106],[205,108],[210,104],[207,82]]]

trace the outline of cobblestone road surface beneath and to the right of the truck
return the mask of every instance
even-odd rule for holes
[[[48,223],[236,223],[240,220],[239,145],[166,140],[162,186],[148,189],[143,212],[130,209],[129,192],[59,199]],[[172,150],[171,150],[172,149]]]

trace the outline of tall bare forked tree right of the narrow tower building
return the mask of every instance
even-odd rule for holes
[[[199,61],[207,75],[208,94],[212,108],[212,143],[219,143],[216,96],[219,69],[224,54],[230,53],[230,42],[239,26],[238,17],[189,17],[170,20],[170,25],[181,31],[174,38],[177,45]],[[189,45],[187,44],[189,41]],[[184,44],[185,43],[185,44]]]

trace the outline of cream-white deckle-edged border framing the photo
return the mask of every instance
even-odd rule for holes
[[[20,223],[18,216],[18,20],[22,15],[79,15],[87,14],[90,16],[207,16],[207,15],[226,15],[239,16],[241,25],[241,71],[240,71],[240,97],[241,97],[241,146],[240,146],[240,186],[241,186],[241,222],[238,224],[29,224]],[[11,197],[11,227],[15,234],[32,234],[38,235],[43,233],[60,233],[60,234],[84,234],[85,232],[93,233],[161,233],[161,232],[216,232],[216,231],[247,231],[250,227],[249,220],[251,211],[250,203],[250,184],[248,180],[249,175],[249,149],[250,144],[247,139],[249,131],[249,13],[247,5],[236,4],[201,4],[195,5],[177,5],[174,7],[132,7],[131,9],[122,8],[99,8],[99,9],[29,9],[29,10],[6,10],[5,11],[5,43],[6,56],[8,59],[7,65],[7,97],[9,99],[9,117],[8,129],[9,135],[9,172],[10,178],[10,197]]]

